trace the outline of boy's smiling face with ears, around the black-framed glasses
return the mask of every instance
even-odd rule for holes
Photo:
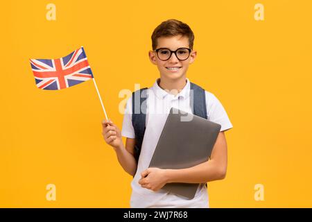
[[[167,48],[171,51],[175,51],[179,48],[189,48],[189,38],[182,35],[159,37],[157,39],[156,49],[160,48]],[[176,53],[179,56],[179,51]],[[179,60],[175,53],[172,53],[171,57],[166,61],[160,60],[156,51],[149,51],[148,54],[150,56],[150,61],[153,62],[154,65],[157,65],[162,78],[175,80],[181,77],[186,77],[187,69],[189,68],[189,65],[194,62],[196,53],[196,51],[192,50],[187,60]]]

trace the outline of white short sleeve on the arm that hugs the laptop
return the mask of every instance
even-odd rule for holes
[[[214,96],[214,94],[206,91],[206,105],[207,105],[207,116],[209,121],[213,121],[221,125],[221,131],[229,130],[233,128],[227,112],[220,101]]]

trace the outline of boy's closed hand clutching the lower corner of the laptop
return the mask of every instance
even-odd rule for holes
[[[166,185],[167,181],[166,169],[148,168],[141,173],[139,185],[146,189],[158,191]]]

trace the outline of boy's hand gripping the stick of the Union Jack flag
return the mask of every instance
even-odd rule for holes
[[[112,121],[106,119],[102,121],[102,126],[102,135],[105,139],[105,142],[115,149],[121,148],[123,142],[121,139],[121,132],[119,128]]]

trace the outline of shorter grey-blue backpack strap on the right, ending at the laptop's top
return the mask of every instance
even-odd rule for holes
[[[191,83],[190,103],[193,114],[205,119],[208,118],[205,89],[195,83]]]

